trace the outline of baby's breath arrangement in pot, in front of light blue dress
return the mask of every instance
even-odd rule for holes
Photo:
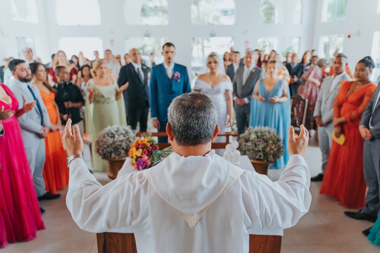
[[[281,142],[277,130],[268,126],[250,126],[240,135],[239,150],[241,155],[247,155],[251,160],[274,162],[283,155]]]

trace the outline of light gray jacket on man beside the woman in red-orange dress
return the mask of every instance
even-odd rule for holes
[[[314,107],[314,117],[321,117],[323,124],[328,124],[332,122],[332,116],[334,111],[334,100],[338,94],[340,88],[340,82],[347,80],[351,81],[351,77],[345,73],[339,80],[338,84],[335,85],[334,89],[330,92],[331,82],[334,76],[326,77],[319,90],[317,101],[315,101]]]

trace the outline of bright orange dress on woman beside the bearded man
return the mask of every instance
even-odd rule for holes
[[[54,108],[55,94],[50,92],[47,94],[40,90],[42,99],[49,114],[50,122],[57,124],[57,111]],[[46,191],[55,193],[62,190],[69,182],[69,170],[67,168],[67,155],[63,149],[62,136],[60,131],[49,132],[45,138],[46,161],[44,166],[44,180]]]

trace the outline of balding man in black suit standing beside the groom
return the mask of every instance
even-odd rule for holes
[[[140,132],[146,132],[149,112],[148,67],[141,64],[141,53],[133,48],[129,51],[131,63],[120,69],[117,84],[119,87],[129,82],[124,91],[127,123],[136,129],[140,123]]]

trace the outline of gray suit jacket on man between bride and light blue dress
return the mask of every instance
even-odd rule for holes
[[[265,71],[263,71],[258,66],[254,66],[252,69],[252,72],[249,73],[249,76],[247,78],[247,81],[243,85],[243,74],[244,74],[244,66],[241,68],[238,68],[236,71],[236,75],[233,80],[233,97],[238,98],[247,98],[249,100],[248,105],[251,103],[252,98],[252,92],[255,88],[255,84],[258,79],[265,77]],[[245,105],[247,105],[245,104]],[[235,103],[235,108],[239,108],[239,104]]]

